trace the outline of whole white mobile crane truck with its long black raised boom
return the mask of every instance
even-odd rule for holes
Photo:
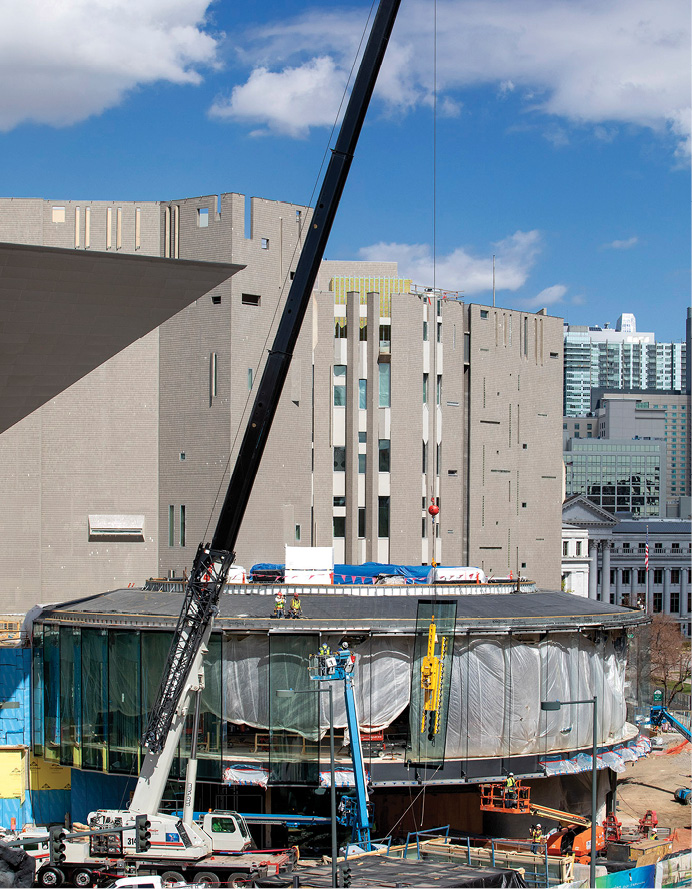
[[[207,833],[193,821],[196,784],[196,725],[185,779],[185,805],[182,819],[159,813],[166,781],[171,770],[186,717],[193,698],[199,713],[203,687],[203,658],[218,612],[221,590],[234,562],[234,549],[247,508],[262,454],[272,427],[279,398],[298,339],[332,224],[339,205],[370,98],[399,10],[400,0],[380,0],[365,51],[344,113],[343,122],[325,172],[317,202],[310,218],[293,282],[286,298],[274,342],[243,436],[226,496],[211,543],[200,544],[185,588],[183,606],[173,634],[156,702],[143,737],[146,750],[137,786],[126,810],[99,810],[89,816],[92,828],[130,828],[126,850],[122,833],[117,842],[99,841],[101,854],[126,857],[135,864],[147,863],[155,873],[193,875],[198,882],[218,885],[237,876],[230,862],[218,866],[211,860],[213,847]],[[355,732],[357,737],[357,729]],[[231,813],[240,850],[250,845],[247,827],[240,816]],[[139,829],[132,830],[135,822]],[[230,826],[230,825],[229,825]],[[245,827],[245,831],[243,830]],[[67,844],[67,849],[74,845]],[[93,851],[93,843],[90,844]],[[74,851],[74,850],[72,850]],[[257,857],[257,856],[255,856]],[[67,856],[69,861],[69,855]],[[176,865],[171,870],[171,863]],[[61,862],[62,864],[62,862]],[[70,868],[51,865],[44,872],[44,885],[59,885]],[[256,870],[256,869],[255,869]],[[204,880],[201,878],[204,877]],[[46,882],[47,881],[47,882]]]

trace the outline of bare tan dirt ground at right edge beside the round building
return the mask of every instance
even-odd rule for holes
[[[677,830],[677,849],[690,848],[692,806],[673,799],[678,787],[690,787],[692,745],[678,734],[664,734],[664,748],[651,752],[618,775],[617,817],[624,824],[636,824],[653,809],[660,827]]]

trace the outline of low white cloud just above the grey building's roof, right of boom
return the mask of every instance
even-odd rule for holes
[[[517,231],[497,241],[485,255],[478,256],[467,247],[438,254],[433,261],[429,244],[372,244],[362,247],[360,259],[397,262],[399,275],[414,283],[442,290],[461,290],[472,296],[492,290],[493,253],[495,254],[496,290],[518,290],[533,268],[541,249],[537,231]]]

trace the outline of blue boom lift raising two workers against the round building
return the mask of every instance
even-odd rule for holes
[[[353,684],[353,671],[356,655],[345,644],[334,653],[313,655],[310,658],[310,679],[317,682],[340,681],[344,683],[344,704],[346,706],[346,724],[351,746],[353,761],[353,777],[355,790],[353,795],[343,796],[339,803],[338,821],[344,827],[351,828],[351,845],[347,852],[371,852],[373,845],[370,838],[370,803],[368,801],[368,782],[363,761],[363,748],[360,741],[358,711]]]

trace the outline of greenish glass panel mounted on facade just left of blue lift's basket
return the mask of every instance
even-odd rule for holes
[[[319,636],[269,636],[269,781],[317,784],[320,764],[319,690],[308,675]],[[257,735],[258,746],[261,735]]]

